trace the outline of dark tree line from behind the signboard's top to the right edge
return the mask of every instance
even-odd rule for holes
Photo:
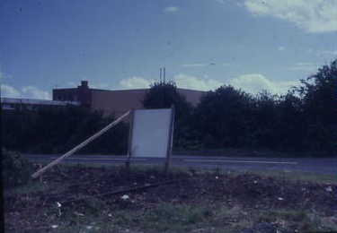
[[[174,82],[155,82],[143,105],[176,106],[175,147],[267,149],[332,156],[336,79],[334,60],[284,95],[262,91],[253,96],[224,85],[206,92],[196,108],[176,91]]]

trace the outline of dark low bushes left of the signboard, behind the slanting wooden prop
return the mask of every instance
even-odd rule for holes
[[[22,153],[65,153],[109,125],[114,118],[78,106],[3,111],[2,145]],[[129,127],[116,125],[84,147],[84,153],[126,153]]]

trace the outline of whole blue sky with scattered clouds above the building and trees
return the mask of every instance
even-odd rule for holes
[[[285,93],[337,56],[336,0],[2,0],[1,96],[159,80]]]

